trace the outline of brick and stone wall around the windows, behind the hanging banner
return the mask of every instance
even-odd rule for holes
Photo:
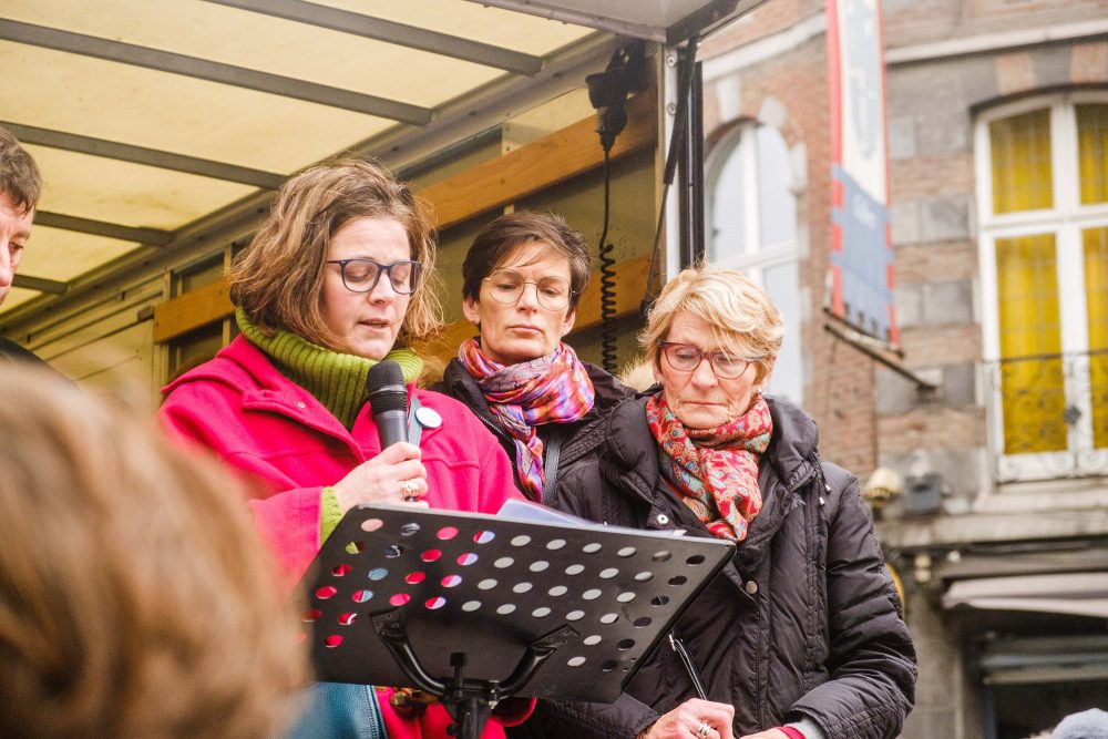
[[[886,48],[951,40],[995,42],[997,34],[1108,22],[1096,0],[882,0]],[[821,12],[823,2],[773,0],[709,43],[767,39]],[[1092,28],[1092,27],[1089,27]],[[1078,31],[1077,35],[1080,37]],[[903,366],[931,391],[837,342],[823,330],[828,266],[830,150],[824,37],[706,83],[705,129],[718,136],[738,120],[762,120],[767,103],[784,111],[781,129],[803,147],[799,219],[807,239],[801,267],[809,318],[801,327],[807,362],[804,406],[821,428],[821,451],[864,480],[875,464],[909,474],[941,472],[946,483],[937,517],[974,510],[989,489],[987,418],[978,382],[983,356],[976,240],[974,116],[982,107],[1037,90],[1108,85],[1108,41],[1075,38],[897,63],[888,69],[890,191],[896,259],[896,309]],[[937,47],[936,47],[937,48]],[[724,111],[727,111],[725,114]],[[780,117],[780,116],[779,116]],[[765,122],[765,121],[763,121]],[[900,519],[927,532],[936,516]],[[879,534],[884,534],[879,524]],[[924,534],[920,534],[923,536]],[[917,537],[919,538],[919,537]],[[886,546],[897,546],[885,538]],[[965,678],[962,645],[941,607],[911,577],[909,624],[921,654],[917,705],[902,739],[981,736],[977,686]],[[972,682],[972,679],[970,680]],[[965,691],[963,691],[965,687]]]

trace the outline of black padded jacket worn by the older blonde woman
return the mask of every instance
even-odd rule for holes
[[[578,435],[555,507],[614,525],[709,536],[659,473],[646,398]],[[912,707],[915,650],[858,480],[820,462],[800,408],[769,399],[773,435],[758,475],[763,507],[724,572],[678,623],[711,700],[735,706],[735,736],[808,717],[832,739],[895,737]],[[597,448],[589,453],[589,448]],[[688,698],[668,647],[613,705],[542,701],[554,737],[634,737]]]

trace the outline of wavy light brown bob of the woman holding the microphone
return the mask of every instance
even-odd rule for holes
[[[322,318],[327,249],[358,218],[396,218],[408,234],[411,259],[423,265],[397,340],[411,346],[442,326],[434,271],[434,223],[428,206],[375,162],[339,160],[291,177],[269,217],[230,270],[230,300],[266,335],[285,329],[340,350]]]

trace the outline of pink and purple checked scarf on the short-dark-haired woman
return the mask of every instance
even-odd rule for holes
[[[532,499],[543,500],[543,442],[534,427],[576,421],[592,410],[596,391],[585,366],[564,343],[530,362],[501,365],[481,351],[476,339],[459,347],[458,361],[515,440],[520,482]]]

